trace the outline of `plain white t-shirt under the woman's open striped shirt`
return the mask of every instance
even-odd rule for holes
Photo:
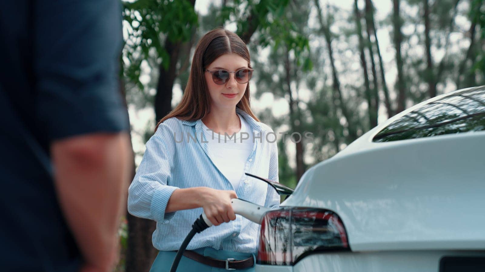
[[[237,190],[244,174],[244,164],[253,150],[253,133],[249,124],[238,114],[241,130],[234,135],[221,135],[210,130],[204,122],[202,127],[208,141],[209,153],[214,165]]]

